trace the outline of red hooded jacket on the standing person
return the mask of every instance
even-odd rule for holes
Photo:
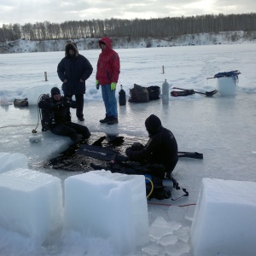
[[[110,38],[102,38],[99,41],[100,47],[101,41],[107,45],[107,48],[102,49],[102,53],[99,55],[96,79],[99,80],[99,84],[117,83],[120,73],[119,55],[111,48]]]

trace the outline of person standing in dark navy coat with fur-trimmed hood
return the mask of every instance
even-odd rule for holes
[[[65,57],[57,67],[57,73],[62,84],[62,90],[65,97],[74,95],[78,103],[77,117],[84,121],[84,94],[85,80],[90,78],[93,68],[90,62],[79,54],[75,44],[68,43],[65,47]]]

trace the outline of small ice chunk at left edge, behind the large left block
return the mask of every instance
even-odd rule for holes
[[[0,173],[14,170],[15,168],[27,168],[25,154],[0,152]]]

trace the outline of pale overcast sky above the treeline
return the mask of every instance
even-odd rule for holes
[[[256,12],[255,0],[0,0],[0,26],[67,20],[161,18]]]

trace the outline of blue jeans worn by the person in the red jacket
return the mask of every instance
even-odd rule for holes
[[[115,98],[115,90],[110,89],[110,84],[103,84],[102,87],[102,99],[106,108],[106,115],[118,117],[117,113],[117,101]]]

